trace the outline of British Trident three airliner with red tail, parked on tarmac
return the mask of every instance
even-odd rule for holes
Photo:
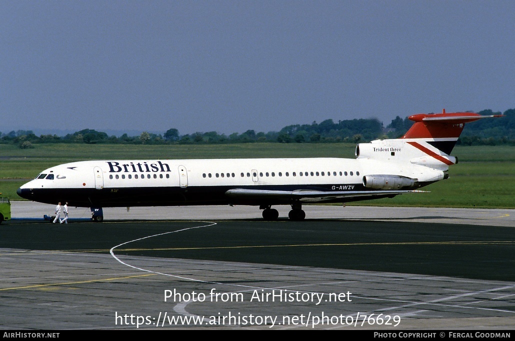
[[[417,193],[449,178],[450,156],[470,112],[415,114],[399,139],[356,146],[356,159],[263,158],[79,161],[50,167],[22,185],[25,199],[89,207],[94,221],[104,207],[250,205],[276,220],[271,207],[288,204],[290,220],[303,220],[304,203],[345,203]]]

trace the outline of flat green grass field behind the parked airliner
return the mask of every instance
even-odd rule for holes
[[[0,145],[0,192],[22,200],[16,189],[43,169],[73,161],[105,159],[354,158],[354,144],[249,143],[228,145],[41,144],[32,149]],[[515,208],[515,151],[512,146],[458,146],[450,178],[423,187],[431,193],[352,204],[466,208]]]

